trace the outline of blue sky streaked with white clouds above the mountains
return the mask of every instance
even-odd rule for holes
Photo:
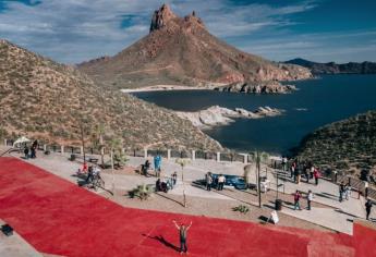
[[[166,0],[270,60],[376,61],[376,0]],[[64,63],[113,56],[148,34],[155,0],[0,0],[0,38]]]

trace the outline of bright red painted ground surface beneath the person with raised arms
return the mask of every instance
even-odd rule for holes
[[[354,255],[345,234],[123,208],[14,158],[0,158],[0,218],[63,256],[177,256],[172,219],[193,221],[190,256]]]

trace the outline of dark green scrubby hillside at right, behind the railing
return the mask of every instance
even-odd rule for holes
[[[315,131],[304,138],[298,156],[351,173],[376,168],[376,111]]]

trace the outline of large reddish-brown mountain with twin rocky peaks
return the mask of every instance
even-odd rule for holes
[[[118,88],[166,84],[211,87],[312,76],[305,68],[240,51],[213,36],[195,12],[179,17],[166,4],[155,11],[147,36],[114,57],[88,61],[78,69]]]

